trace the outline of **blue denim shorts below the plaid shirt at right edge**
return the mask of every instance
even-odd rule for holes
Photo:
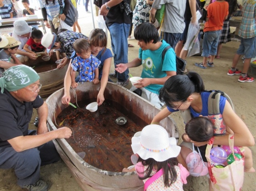
[[[238,55],[245,55],[245,58],[256,57],[256,36],[253,38],[241,38],[241,44],[237,49]]]

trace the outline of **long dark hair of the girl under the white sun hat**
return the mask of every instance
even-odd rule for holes
[[[177,172],[175,169],[175,166],[178,165],[177,158],[169,158],[163,162],[157,162],[153,158],[143,160],[141,157],[139,157],[138,162],[142,162],[143,166],[148,166],[147,169],[143,172],[143,174],[146,173],[146,175],[144,177],[139,176],[140,180],[145,180],[151,177],[150,174],[154,166],[157,166],[156,171],[163,169],[163,182],[166,187],[170,187],[171,184],[173,184],[177,180]]]

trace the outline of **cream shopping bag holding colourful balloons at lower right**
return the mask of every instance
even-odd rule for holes
[[[234,135],[228,136],[229,147],[233,153],[234,162],[223,167],[215,167],[210,159],[210,151],[213,146],[214,137],[212,137],[206,147],[206,159],[208,162],[208,170],[211,180],[211,191],[240,191],[243,186],[243,174],[244,174],[244,161],[245,157],[243,152],[239,153],[242,158],[238,159],[234,155]],[[243,147],[239,147],[242,151]]]

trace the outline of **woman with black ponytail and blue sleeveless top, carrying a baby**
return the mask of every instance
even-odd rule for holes
[[[210,92],[204,90],[202,78],[194,72],[187,75],[171,76],[160,89],[159,98],[166,104],[166,108],[160,111],[152,120],[152,124],[158,124],[163,118],[175,111],[190,110],[192,117],[208,117],[208,97]],[[234,134],[234,146],[254,146],[254,138],[243,120],[236,115],[228,100],[221,96],[219,110],[228,133]],[[206,142],[194,142],[186,134],[182,135],[185,142],[192,142],[195,146],[205,146]],[[228,145],[228,135],[215,136],[214,144]],[[251,151],[245,147],[245,155],[250,156]],[[245,164],[245,171],[254,171],[252,160]]]

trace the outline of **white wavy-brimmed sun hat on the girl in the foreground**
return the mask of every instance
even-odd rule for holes
[[[169,138],[167,131],[159,125],[148,125],[141,131],[141,136],[132,137],[132,151],[142,159],[153,158],[163,162],[179,155],[180,146],[176,138]]]

